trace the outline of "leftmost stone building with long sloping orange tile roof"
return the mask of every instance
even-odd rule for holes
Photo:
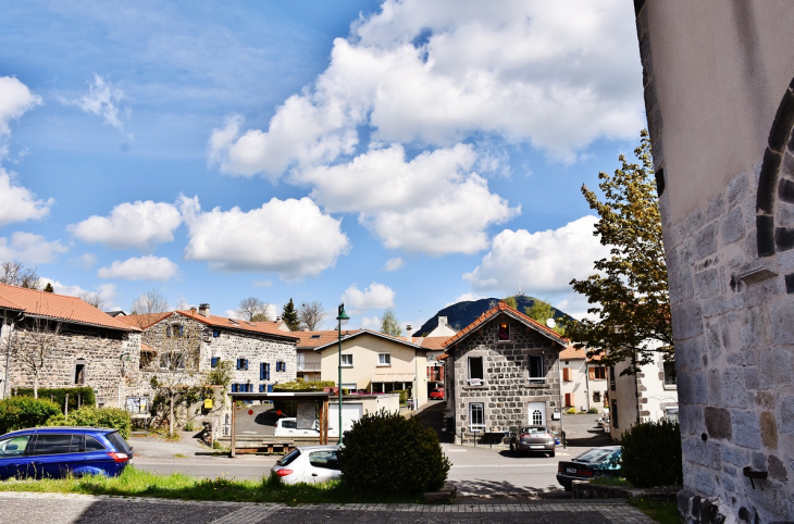
[[[123,407],[138,387],[140,329],[75,297],[0,284],[0,395],[33,387],[25,355],[42,348],[39,388],[87,386],[98,406]]]

